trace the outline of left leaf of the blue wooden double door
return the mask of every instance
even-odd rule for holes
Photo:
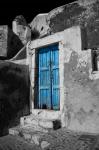
[[[48,105],[50,105],[49,61],[49,50],[41,48],[39,50],[39,108],[49,107]]]

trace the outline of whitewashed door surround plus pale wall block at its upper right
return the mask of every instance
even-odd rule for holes
[[[31,80],[31,92],[30,92],[30,111],[32,114],[35,114],[36,116],[41,116],[41,118],[51,118],[54,116],[53,119],[61,119],[62,126],[64,126],[64,117],[63,117],[63,111],[64,111],[64,102],[66,101],[65,97],[65,87],[64,87],[64,63],[66,61],[69,61],[67,54],[68,51],[73,50],[79,52],[81,51],[81,31],[80,27],[73,27],[70,29],[67,29],[63,32],[56,33],[54,35],[50,35],[47,37],[44,37],[42,39],[37,39],[34,41],[31,41],[31,43],[28,44],[28,60],[30,66],[30,80]],[[41,48],[43,46],[48,46],[54,43],[59,43],[59,76],[60,76],[60,110],[59,111],[52,111],[52,110],[43,110],[43,109],[34,109],[34,76],[35,76],[35,51],[38,48]],[[71,55],[71,52],[69,55]],[[70,58],[70,56],[69,56]],[[46,114],[46,115],[44,115]]]

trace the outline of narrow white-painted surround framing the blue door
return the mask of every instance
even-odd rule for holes
[[[31,60],[31,62],[29,62],[29,66],[30,66],[30,80],[31,80],[31,107],[30,107],[30,111],[32,112],[32,114],[36,111],[36,109],[34,109],[34,76],[35,76],[35,51],[43,46],[48,46],[54,43],[59,43],[59,75],[60,75],[60,111],[62,111],[63,108],[63,101],[64,101],[64,87],[63,87],[63,83],[64,83],[64,57],[63,57],[63,34],[64,32],[61,33],[57,33],[55,35],[51,35],[51,36],[47,36],[45,38],[42,39],[37,39],[35,41],[32,41],[31,44],[29,45],[29,50],[28,50],[28,59]],[[31,51],[31,52],[30,52]],[[30,53],[30,55],[29,55]],[[47,116],[44,115],[44,112],[46,111]],[[54,114],[54,111],[48,111],[48,110],[37,110],[36,111],[36,115],[39,114],[38,112],[42,112],[40,113],[40,115],[42,114],[43,116],[45,116],[45,118],[51,118],[51,116],[54,116],[54,119],[59,118],[60,117],[60,111],[56,111]]]

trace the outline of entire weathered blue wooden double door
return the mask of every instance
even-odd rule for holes
[[[40,48],[38,108],[59,109],[59,50],[58,44]]]

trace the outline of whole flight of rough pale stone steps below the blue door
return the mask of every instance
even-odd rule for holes
[[[39,141],[51,130],[61,127],[59,114],[56,112],[34,111],[29,116],[21,117],[20,125],[10,128],[10,135],[17,135],[30,143],[39,145]]]

